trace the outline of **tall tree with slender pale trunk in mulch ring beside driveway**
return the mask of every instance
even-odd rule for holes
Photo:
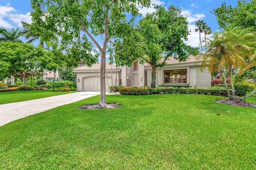
[[[120,35],[126,32],[126,28],[134,25],[138,15],[136,6],[149,6],[150,0],[31,0],[31,4],[34,29],[42,40],[55,35],[61,37],[62,47],[69,56],[83,56],[88,66],[96,63],[99,56],[92,55],[91,41],[98,48],[101,55],[99,107],[108,107],[105,65],[110,37],[122,38]],[[96,39],[97,36],[101,40]]]

